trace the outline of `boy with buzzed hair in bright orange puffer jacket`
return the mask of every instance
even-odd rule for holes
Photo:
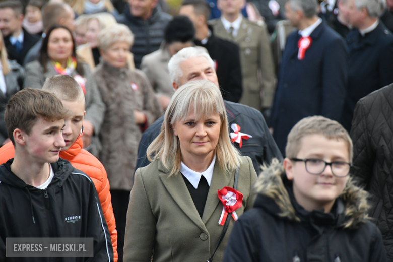
[[[110,232],[114,262],[117,261],[117,231],[109,192],[109,181],[104,166],[88,151],[83,149],[81,129],[85,116],[85,96],[81,86],[71,76],[56,75],[46,79],[42,90],[49,91],[60,99],[70,116],[64,119],[62,136],[65,146],[61,148],[60,158],[68,160],[79,170],[86,173],[96,187],[102,211]],[[7,143],[0,148],[0,164],[14,157],[13,144]]]

